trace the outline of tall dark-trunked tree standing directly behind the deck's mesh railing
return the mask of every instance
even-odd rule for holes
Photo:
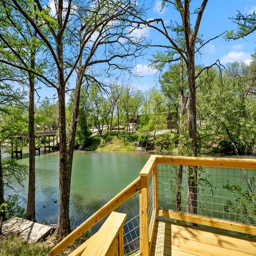
[[[195,53],[207,42],[203,42],[198,37],[199,25],[201,22],[202,14],[207,4],[207,0],[200,1],[199,6],[194,10],[191,9],[191,0],[163,0],[162,5],[173,6],[173,8],[179,13],[181,24],[175,27],[173,25],[166,26],[164,20],[161,18],[154,19],[141,19],[137,17],[137,23],[146,24],[148,27],[156,29],[163,35],[164,39],[167,39],[166,45],[154,45],[167,49],[169,60],[178,60],[179,57],[183,59],[187,69],[187,86],[188,86],[188,107],[187,107],[187,126],[188,126],[188,154],[190,156],[197,156],[197,131],[196,131],[196,93],[195,93],[195,79],[199,75],[195,74]],[[193,18],[191,15],[193,14]],[[192,26],[192,22],[194,25]],[[180,44],[179,40],[175,40],[172,33],[179,30],[183,34],[184,44]],[[196,47],[196,43],[200,42],[200,45]],[[188,190],[186,211],[189,213],[197,212],[197,168],[190,166],[188,168]]]

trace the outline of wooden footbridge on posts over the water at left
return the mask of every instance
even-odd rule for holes
[[[38,155],[40,154],[41,148],[44,148],[44,152],[46,152],[46,149],[48,149],[48,152],[50,152],[50,149],[54,152],[57,148],[58,144],[58,137],[57,137],[57,130],[45,130],[45,131],[36,131],[34,133],[35,135],[35,151],[38,151]],[[22,148],[18,146],[18,144],[22,144],[22,141],[24,138],[27,138],[28,135],[24,134],[14,134],[11,139],[11,158],[15,157],[18,158],[18,154],[20,158],[22,158]],[[43,146],[41,146],[40,140],[41,137],[43,137]],[[13,139],[14,138],[14,139]],[[46,143],[46,138],[48,138],[48,143]],[[56,144],[55,144],[56,139]],[[13,143],[14,140],[14,143]],[[52,144],[50,144],[50,141],[52,141]]]

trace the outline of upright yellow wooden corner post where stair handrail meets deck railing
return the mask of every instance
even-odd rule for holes
[[[147,175],[141,176],[141,189],[139,191],[139,250],[141,256],[149,255]]]

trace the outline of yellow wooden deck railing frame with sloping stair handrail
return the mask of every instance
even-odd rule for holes
[[[139,250],[140,255],[149,255],[154,224],[157,216],[169,217],[196,224],[202,224],[212,227],[223,228],[227,230],[244,232],[256,235],[256,226],[244,223],[236,223],[224,219],[215,219],[213,217],[199,216],[196,214],[181,213],[174,210],[158,208],[158,175],[157,165],[175,164],[192,166],[209,166],[221,168],[241,168],[256,169],[255,159],[233,159],[233,158],[209,158],[209,157],[185,157],[185,156],[162,156],[151,155],[142,170],[139,177],[124,188],[119,194],[107,202],[102,208],[95,212],[85,222],[72,231],[51,251],[50,255],[57,255],[66,248],[75,239],[85,233],[95,223],[115,210],[119,205],[125,202],[130,196],[139,191]],[[150,198],[151,201],[150,201]],[[149,221],[150,219],[150,221]]]

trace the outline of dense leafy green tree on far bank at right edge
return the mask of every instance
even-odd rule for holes
[[[222,153],[249,153],[256,142],[256,101],[249,66],[232,63],[220,77],[217,69],[201,77],[197,108],[204,148]],[[204,80],[203,80],[204,79]]]

